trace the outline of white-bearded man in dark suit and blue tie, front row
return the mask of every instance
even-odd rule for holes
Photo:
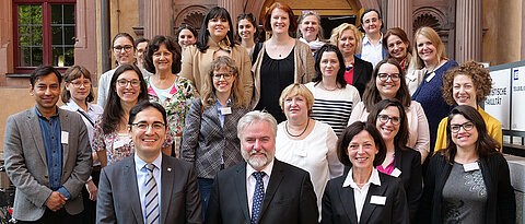
[[[273,158],[277,121],[250,111],[237,125],[246,161],[220,172],[206,223],[317,223],[317,202],[307,172]]]

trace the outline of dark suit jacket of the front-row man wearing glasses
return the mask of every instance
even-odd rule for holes
[[[202,223],[200,192],[192,165],[162,154],[161,166],[161,224]],[[96,223],[144,223],[133,156],[102,169]]]

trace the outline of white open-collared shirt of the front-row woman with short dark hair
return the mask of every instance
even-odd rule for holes
[[[380,180],[380,173],[377,173],[377,169],[372,169],[372,175],[369,178],[369,181],[364,184],[363,188],[359,188],[358,184],[353,181],[353,176],[352,176],[352,169],[350,168],[350,172],[348,172],[347,178],[345,179],[345,182],[342,182],[342,187],[351,187],[353,188],[353,199],[355,203],[355,212],[358,216],[358,223],[359,220],[361,219],[361,212],[363,212],[363,207],[364,207],[364,201],[366,200],[366,194],[369,193],[370,185],[376,185],[381,186],[381,180]]]

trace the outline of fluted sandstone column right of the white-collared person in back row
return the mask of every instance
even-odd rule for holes
[[[383,17],[386,28],[402,28],[412,43],[412,0],[388,0],[387,5],[386,20]]]

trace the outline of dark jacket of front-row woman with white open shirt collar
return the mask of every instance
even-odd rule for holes
[[[353,188],[342,187],[346,178],[342,175],[328,180],[323,194],[320,223],[358,223]],[[381,186],[370,186],[359,223],[409,223],[407,199],[400,179],[381,172],[380,179]],[[372,204],[372,196],[386,197],[385,205]]]

